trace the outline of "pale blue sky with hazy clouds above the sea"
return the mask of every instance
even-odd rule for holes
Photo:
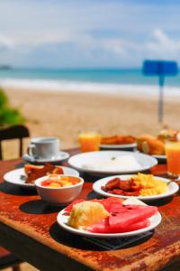
[[[134,68],[180,63],[178,0],[1,0],[0,65]]]

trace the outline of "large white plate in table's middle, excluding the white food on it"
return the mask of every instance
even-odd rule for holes
[[[130,155],[133,156],[136,161],[140,164],[139,169],[129,168],[128,170],[103,170],[101,166],[99,168],[96,165],[99,161],[103,160],[111,160],[112,157],[117,157],[121,155]],[[85,168],[85,164],[94,164],[94,169]],[[68,159],[68,164],[72,167],[76,168],[78,171],[82,171],[85,173],[91,173],[93,175],[107,175],[107,174],[118,174],[118,173],[137,173],[150,169],[154,165],[157,164],[157,159],[147,155],[147,154],[139,154],[132,152],[124,152],[124,151],[100,151],[100,152],[89,152],[83,154],[76,154],[71,156]]]

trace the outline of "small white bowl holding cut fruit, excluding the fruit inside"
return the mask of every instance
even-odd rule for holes
[[[58,176],[73,177],[78,179],[79,182],[71,186],[55,188],[41,185],[42,181],[49,180],[49,176],[44,176],[37,179],[34,183],[42,201],[48,201],[49,203],[53,204],[68,203],[75,200],[78,194],[81,192],[84,184],[84,180],[82,178],[73,175]]]

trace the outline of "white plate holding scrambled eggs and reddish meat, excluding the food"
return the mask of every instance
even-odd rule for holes
[[[103,178],[97,182],[94,182],[93,185],[93,190],[94,192],[103,195],[105,197],[117,197],[117,198],[121,198],[121,199],[128,199],[130,198],[130,196],[123,196],[123,195],[116,195],[116,194],[112,194],[109,192],[104,192],[102,190],[102,186],[104,186],[107,182],[109,182],[110,180],[112,180],[115,177],[121,178],[121,180],[127,180],[130,179],[130,177],[132,177],[133,175],[115,175],[115,176],[109,176],[106,178]],[[141,201],[152,201],[152,200],[158,200],[161,198],[166,198],[168,196],[173,195],[175,192],[178,191],[179,186],[176,182],[170,182],[170,180],[166,179],[166,178],[161,178],[161,177],[157,177],[156,178],[162,182],[169,182],[168,184],[168,191],[166,193],[163,194],[159,194],[159,195],[154,195],[154,196],[137,196],[136,198],[141,200]]]

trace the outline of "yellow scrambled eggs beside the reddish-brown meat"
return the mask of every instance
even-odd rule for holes
[[[167,192],[166,182],[158,180],[151,174],[138,173],[133,176],[133,188],[139,190],[140,196],[153,196]]]

